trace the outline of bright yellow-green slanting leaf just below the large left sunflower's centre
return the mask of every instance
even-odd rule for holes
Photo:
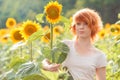
[[[33,33],[31,36],[29,36],[27,43],[31,43],[32,41],[39,39],[42,36],[42,34],[42,30]]]

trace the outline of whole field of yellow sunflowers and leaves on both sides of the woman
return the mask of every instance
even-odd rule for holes
[[[36,20],[18,23],[15,18],[7,18],[6,27],[0,29],[0,80],[70,80],[62,66],[58,72],[42,68],[45,58],[61,64],[69,52],[62,40],[73,38],[72,18],[62,16],[62,9],[62,4],[51,0],[44,12],[35,16]],[[107,56],[107,80],[119,80],[120,21],[106,23],[94,45]]]

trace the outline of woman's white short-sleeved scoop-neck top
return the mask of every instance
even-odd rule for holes
[[[63,41],[70,51],[67,58],[62,63],[68,68],[74,80],[95,80],[96,68],[105,67],[106,56],[103,52],[98,52],[90,56],[82,56],[75,51],[74,40]]]

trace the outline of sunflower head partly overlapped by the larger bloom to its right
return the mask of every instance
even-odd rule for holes
[[[17,42],[23,40],[23,37],[20,33],[19,28],[12,29],[11,33],[10,33],[10,37],[14,43],[17,43]]]

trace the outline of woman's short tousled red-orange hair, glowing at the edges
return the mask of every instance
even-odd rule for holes
[[[71,25],[71,31],[76,35],[75,23],[85,22],[91,29],[91,39],[94,40],[97,32],[102,28],[102,20],[99,14],[93,9],[85,8],[81,9],[73,15],[73,22]]]

